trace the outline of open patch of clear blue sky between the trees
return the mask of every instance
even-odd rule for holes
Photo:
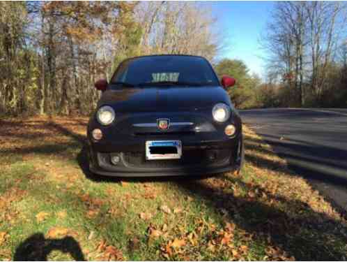
[[[259,43],[261,33],[270,20],[272,1],[213,1],[213,16],[217,18],[216,30],[225,35],[225,50],[220,57],[241,59],[261,78],[265,75],[263,59],[265,50]]]

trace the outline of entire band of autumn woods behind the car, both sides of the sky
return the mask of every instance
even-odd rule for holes
[[[206,57],[236,78],[237,108],[347,107],[346,13],[346,3],[276,3],[261,81],[242,61],[217,59],[223,34],[201,3],[0,1],[0,115],[88,114],[95,80],[146,54]]]

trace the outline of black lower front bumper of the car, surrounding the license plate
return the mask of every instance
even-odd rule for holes
[[[237,170],[240,164],[242,135],[222,140],[170,137],[170,140],[181,140],[183,145],[182,158],[173,160],[146,160],[146,140],[153,138],[142,138],[137,140],[137,143],[133,140],[109,143],[90,141],[89,169],[99,175],[114,177],[150,177],[224,173]],[[110,161],[110,156],[114,153],[121,159],[117,165]]]

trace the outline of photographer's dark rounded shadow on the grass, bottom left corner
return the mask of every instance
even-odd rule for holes
[[[67,236],[61,239],[46,239],[43,233],[26,238],[16,248],[13,261],[47,261],[48,255],[54,250],[70,254],[75,261],[85,261],[75,238]]]

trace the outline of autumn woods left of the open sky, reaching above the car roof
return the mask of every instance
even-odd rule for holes
[[[218,49],[197,3],[0,2],[0,13],[1,115],[88,113],[93,82],[127,57]]]

